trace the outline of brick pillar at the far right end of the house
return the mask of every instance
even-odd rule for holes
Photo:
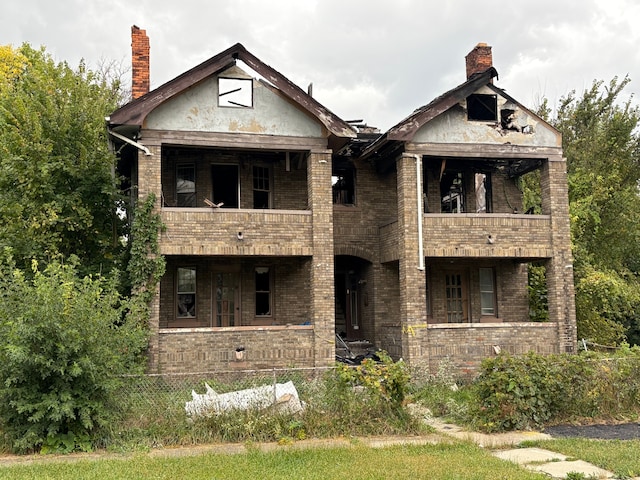
[[[560,155],[541,171],[542,211],[551,216],[553,256],[547,260],[549,320],[558,322],[558,350],[576,351],[576,309],[569,221],[567,162]]]

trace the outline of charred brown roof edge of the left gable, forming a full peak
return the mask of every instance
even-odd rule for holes
[[[141,127],[147,115],[154,108],[207,77],[235,65],[236,60],[242,60],[255,72],[262,75],[286,97],[315,117],[331,134],[342,138],[356,136],[355,130],[348,123],[321,105],[284,75],[262,62],[240,43],[236,43],[173,80],[169,80],[164,85],[120,107],[109,117],[109,124],[111,126],[131,125]]]

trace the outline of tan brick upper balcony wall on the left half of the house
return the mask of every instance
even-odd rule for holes
[[[163,255],[310,256],[308,210],[176,208],[161,210]]]

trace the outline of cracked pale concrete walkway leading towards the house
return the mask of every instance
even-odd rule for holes
[[[493,450],[493,455],[502,460],[517,463],[524,468],[545,473],[551,478],[565,479],[570,473],[581,473],[585,478],[616,478],[613,473],[583,460],[568,458],[560,453],[542,448],[514,448],[527,440],[549,440],[550,435],[539,432],[507,432],[487,435],[467,432],[457,425],[443,423],[438,419],[428,422],[439,433],[477,443]],[[640,479],[635,479],[640,480]]]

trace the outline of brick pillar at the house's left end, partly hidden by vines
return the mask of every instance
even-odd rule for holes
[[[161,163],[162,163],[162,147],[160,144],[149,145],[147,148],[151,155],[146,155],[142,151],[138,151],[138,172],[137,172],[137,200],[144,202],[151,193],[156,196],[156,211],[160,211],[162,201],[162,179],[161,179]],[[160,235],[160,233],[159,233]],[[160,238],[160,242],[162,238]],[[147,354],[147,371],[155,372],[158,370],[159,350],[160,350],[160,285],[156,287],[156,292],[149,305],[149,350]]]

